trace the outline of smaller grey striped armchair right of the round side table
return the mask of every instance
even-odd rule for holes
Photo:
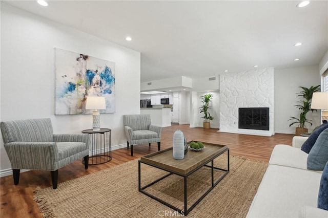
[[[124,130],[127,137],[127,145],[131,144],[131,156],[133,145],[157,142],[160,150],[160,137],[162,127],[151,125],[149,114],[124,115]]]

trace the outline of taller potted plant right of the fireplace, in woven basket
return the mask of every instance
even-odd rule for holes
[[[312,120],[306,119],[306,114],[308,114],[308,112],[310,111],[317,111],[316,109],[311,109],[311,100],[313,93],[320,91],[320,85],[311,86],[310,88],[299,86],[299,88],[301,88],[302,91],[297,93],[297,96],[301,96],[303,99],[298,101],[299,104],[296,104],[295,106],[296,108],[298,108],[298,110],[301,111],[301,113],[299,114],[299,117],[290,117],[291,119],[289,119],[293,120],[293,122],[289,126],[298,123],[298,126],[296,127],[295,131],[296,136],[308,132],[308,128],[306,128],[305,126],[306,123],[312,125]]]

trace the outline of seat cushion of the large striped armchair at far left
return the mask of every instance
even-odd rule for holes
[[[57,142],[56,144],[59,153],[59,160],[63,160],[88,149],[84,142]]]

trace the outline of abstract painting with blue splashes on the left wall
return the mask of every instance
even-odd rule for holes
[[[55,115],[90,114],[88,96],[106,99],[106,110],[115,113],[115,63],[55,48]]]

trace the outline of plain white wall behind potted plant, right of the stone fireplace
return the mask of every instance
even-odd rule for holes
[[[299,110],[294,106],[301,97],[296,93],[301,91],[298,86],[310,88],[312,85],[320,84],[318,66],[306,66],[300,68],[289,68],[275,70],[275,132],[285,134],[295,134],[296,124],[289,127],[290,117],[299,117]],[[313,120],[313,125],[307,125],[311,130],[320,125],[320,111],[311,114],[306,118]]]

